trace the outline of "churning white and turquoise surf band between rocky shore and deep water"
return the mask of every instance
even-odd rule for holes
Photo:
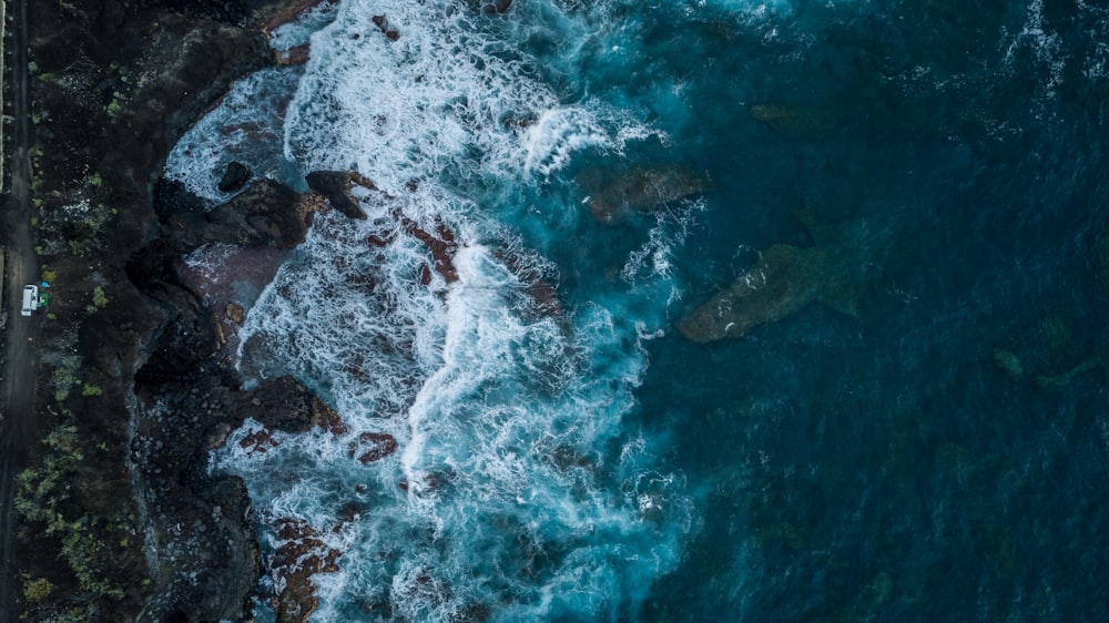
[[[342,429],[260,450],[248,421],[212,460],[245,479],[267,551],[295,521],[340,552],[313,578],[313,621],[635,619],[695,532],[695,492],[634,390],[680,298],[669,257],[703,206],[638,214],[627,244],[589,256],[576,159],[668,136],[576,78],[627,53],[614,6],[511,11],[324,3],[273,37],[311,42],[308,63],[241,81],[166,165],[213,205],[231,161],[298,190],[313,171],[374,185],[353,191],[367,218],[317,215],[240,299],[247,381],[294,375]],[[449,238],[450,266],[414,232]],[[591,262],[611,269],[574,267]],[[396,451],[358,460],[381,436]]]

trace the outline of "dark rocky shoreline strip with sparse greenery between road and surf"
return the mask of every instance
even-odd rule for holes
[[[32,226],[52,297],[43,443],[17,492],[24,620],[250,617],[264,562],[250,500],[241,480],[207,476],[207,451],[245,418],[296,431],[328,416],[292,379],[242,390],[175,264],[207,243],[294,246],[311,213],[269,183],[190,212],[160,176],[234,80],[277,62],[262,29],[304,8],[283,4],[29,7]]]

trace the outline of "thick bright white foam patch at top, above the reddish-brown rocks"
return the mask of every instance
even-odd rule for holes
[[[354,168],[399,193],[429,177],[546,175],[569,152],[619,150],[650,132],[599,101],[560,101],[519,52],[522,42],[497,39],[503,33],[486,22],[455,3],[343,4],[313,37],[287,155],[306,171]]]

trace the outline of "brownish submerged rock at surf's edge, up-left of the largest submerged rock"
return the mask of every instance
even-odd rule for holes
[[[614,178],[613,178],[614,177]],[[620,174],[590,171],[579,176],[589,210],[601,223],[649,213],[669,202],[704,192],[708,181],[680,166],[632,168]]]

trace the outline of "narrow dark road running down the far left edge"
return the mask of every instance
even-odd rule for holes
[[[4,330],[3,382],[0,382],[0,621],[17,621],[16,599],[21,589],[19,570],[12,555],[18,517],[12,508],[16,474],[23,468],[28,448],[38,439],[34,422],[34,377],[38,366],[35,343],[40,318],[20,315],[20,295],[24,284],[39,277],[39,259],[34,254],[30,222],[31,163],[28,147],[27,108],[27,0],[11,0],[4,52],[10,51],[10,80],[6,85],[6,104],[13,118],[8,127],[11,145],[7,166],[10,194],[3,197],[0,212],[0,236],[8,249],[7,283],[10,296],[4,299],[8,324]]]

